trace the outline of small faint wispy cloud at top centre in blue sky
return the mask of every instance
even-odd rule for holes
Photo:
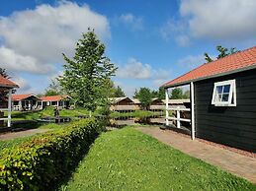
[[[124,23],[131,31],[143,30],[143,19],[141,17],[128,13],[121,15],[119,21]]]

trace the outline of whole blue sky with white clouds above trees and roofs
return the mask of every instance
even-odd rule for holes
[[[204,63],[215,46],[256,45],[255,0],[1,0],[0,67],[18,93],[43,93],[82,32],[95,29],[128,96]]]

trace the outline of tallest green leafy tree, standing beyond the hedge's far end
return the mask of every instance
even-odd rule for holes
[[[63,76],[58,80],[77,105],[94,111],[108,98],[106,87],[117,67],[105,55],[105,45],[90,29],[76,43],[73,59],[63,54]],[[108,87],[107,87],[108,88]]]

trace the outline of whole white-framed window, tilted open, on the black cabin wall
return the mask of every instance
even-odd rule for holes
[[[235,80],[214,83],[212,104],[236,106]]]

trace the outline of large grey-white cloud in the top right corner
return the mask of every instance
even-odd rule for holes
[[[188,46],[191,38],[250,40],[256,35],[255,0],[181,0],[179,18],[160,29],[165,40]]]

